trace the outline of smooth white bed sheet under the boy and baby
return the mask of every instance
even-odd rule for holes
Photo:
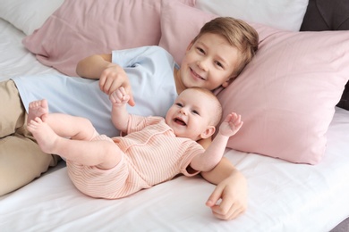
[[[0,79],[55,72],[21,46],[22,37],[0,20]],[[328,231],[349,216],[348,141],[349,112],[336,108],[325,158],[316,166],[226,150],[249,185],[247,211],[230,221],[205,206],[214,186],[200,177],[100,200],[72,186],[61,163],[0,197],[0,231]]]

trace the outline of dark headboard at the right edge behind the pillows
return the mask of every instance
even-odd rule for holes
[[[306,30],[349,30],[349,1],[310,0],[301,26]],[[337,106],[349,110],[349,82]]]

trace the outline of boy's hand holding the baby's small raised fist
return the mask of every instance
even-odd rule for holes
[[[129,95],[128,104],[134,106],[134,100],[132,95],[132,88],[126,72],[122,67],[113,63],[110,64],[106,70],[103,70],[99,78],[99,88],[106,93],[106,95],[112,95],[119,87],[123,87],[125,92]]]

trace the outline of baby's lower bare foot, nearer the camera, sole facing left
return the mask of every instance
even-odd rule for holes
[[[59,138],[55,131],[46,122],[36,117],[30,120],[27,126],[38,142],[38,146],[44,153],[55,153],[55,142]]]

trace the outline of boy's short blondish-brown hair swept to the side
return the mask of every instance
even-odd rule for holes
[[[232,17],[218,17],[207,22],[193,40],[195,43],[203,34],[212,33],[225,37],[231,46],[240,51],[240,59],[234,67],[233,77],[236,78],[243,68],[251,62],[258,49],[259,35],[247,22]]]

